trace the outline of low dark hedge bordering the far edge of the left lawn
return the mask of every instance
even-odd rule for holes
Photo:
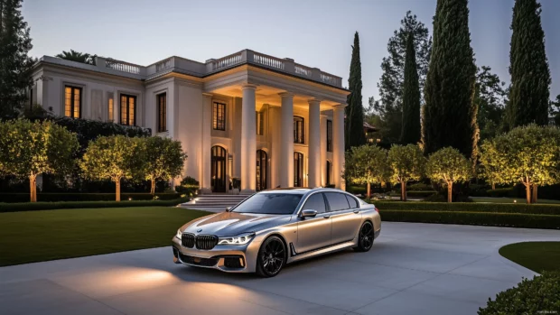
[[[25,202],[0,203],[1,212],[54,210],[59,208],[127,208],[127,207],[172,207],[189,199],[173,200],[132,200],[132,201],[61,201],[61,202]]]

